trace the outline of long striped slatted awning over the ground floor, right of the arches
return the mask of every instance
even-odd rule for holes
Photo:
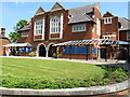
[[[92,39],[92,40],[75,40],[54,44],[53,46],[67,45],[113,45],[113,44],[130,44],[129,42],[113,39]]]

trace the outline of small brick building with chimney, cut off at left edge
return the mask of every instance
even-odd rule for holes
[[[2,45],[9,44],[10,40],[4,37],[5,34],[5,28],[1,28],[1,33],[0,33],[0,56],[4,55],[5,50],[3,48]]]

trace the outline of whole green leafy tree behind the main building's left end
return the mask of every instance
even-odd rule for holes
[[[9,38],[12,42],[16,43],[20,40],[20,33],[17,32],[20,29],[22,29],[27,24],[27,20],[21,19],[18,23],[16,23],[16,26],[14,27],[14,31],[10,32]]]

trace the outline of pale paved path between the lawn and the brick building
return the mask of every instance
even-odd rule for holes
[[[130,64],[127,64],[126,60],[110,60],[100,59],[100,60],[86,60],[86,59],[67,59],[67,58],[52,58],[52,57],[28,57],[28,56],[0,56],[0,57],[10,57],[10,58],[31,58],[31,59],[50,59],[50,60],[63,60],[63,61],[75,61],[75,63],[86,63],[93,65],[106,65],[106,66],[121,66],[130,71]]]

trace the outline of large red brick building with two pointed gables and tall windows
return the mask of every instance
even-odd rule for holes
[[[58,51],[62,57],[68,57],[69,47],[54,47],[53,44],[103,38],[130,42],[130,29],[127,27],[129,22],[109,12],[102,16],[100,3],[65,10],[56,2],[49,12],[39,8],[35,16],[18,31],[20,43],[32,44],[37,56],[52,57]],[[89,58],[98,57],[98,47],[73,47],[72,57],[86,58],[87,53]]]

